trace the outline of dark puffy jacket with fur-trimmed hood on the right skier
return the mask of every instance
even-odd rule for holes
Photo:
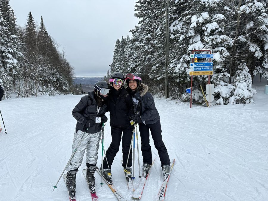
[[[139,110],[142,122],[145,121],[145,124],[154,124],[159,121],[160,116],[155,107],[154,98],[148,92],[147,85],[141,83],[136,91],[132,91],[131,89],[127,89],[127,91],[141,103]]]

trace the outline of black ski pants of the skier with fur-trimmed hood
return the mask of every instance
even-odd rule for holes
[[[161,166],[163,165],[170,166],[169,155],[168,155],[166,146],[162,140],[162,135],[161,135],[162,130],[161,130],[160,120],[154,124],[139,123],[143,163],[152,164],[152,149],[151,149],[150,140],[149,140],[149,136],[150,136],[149,129],[151,131],[151,135],[155,144],[155,148],[158,151],[158,155],[161,161]]]

